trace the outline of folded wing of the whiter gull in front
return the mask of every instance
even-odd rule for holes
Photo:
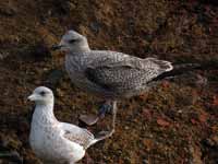
[[[92,132],[75,125],[60,122],[61,129],[64,131],[63,137],[72,142],[76,142],[84,149],[87,149],[95,138]]]

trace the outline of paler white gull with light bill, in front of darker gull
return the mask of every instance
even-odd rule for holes
[[[105,139],[96,139],[86,129],[58,121],[53,115],[55,98],[50,89],[39,86],[28,99],[36,103],[29,143],[45,164],[74,164],[85,155],[87,148]]]

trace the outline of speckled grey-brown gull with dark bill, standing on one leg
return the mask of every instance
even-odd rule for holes
[[[112,106],[113,129],[117,101],[147,91],[157,83],[153,79],[173,68],[171,62],[155,58],[141,59],[118,51],[92,50],[86,37],[74,31],[66,32],[53,49],[66,52],[65,69],[76,86],[106,99],[98,117],[82,116],[81,119],[93,125]]]

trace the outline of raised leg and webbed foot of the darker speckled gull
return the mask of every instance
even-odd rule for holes
[[[81,115],[80,116],[80,120],[83,121],[84,124],[86,124],[87,126],[93,126],[95,125],[99,118],[104,118],[106,113],[111,110],[111,102],[110,101],[106,101],[106,103],[102,104],[102,106],[100,107],[98,115]]]

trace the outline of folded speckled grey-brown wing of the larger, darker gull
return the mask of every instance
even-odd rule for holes
[[[86,78],[104,90],[123,92],[146,85],[159,74],[172,70],[169,61],[141,59],[113,51],[94,51],[96,60],[85,70]],[[92,55],[90,55],[92,56]]]

